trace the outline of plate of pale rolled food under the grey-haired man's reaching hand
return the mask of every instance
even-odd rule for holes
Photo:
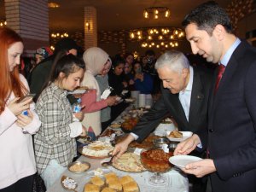
[[[140,156],[130,152],[122,154],[118,160],[113,162],[112,166],[125,172],[145,171],[145,168],[141,163]]]

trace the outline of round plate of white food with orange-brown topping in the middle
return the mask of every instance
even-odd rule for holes
[[[105,158],[108,157],[110,151],[113,151],[113,146],[109,141],[96,141],[84,146],[82,154],[92,158]]]

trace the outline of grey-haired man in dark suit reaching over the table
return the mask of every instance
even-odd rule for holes
[[[135,139],[142,142],[166,114],[171,114],[176,120],[179,131],[194,132],[207,127],[207,103],[212,73],[189,66],[186,56],[175,50],[160,55],[155,69],[163,82],[160,100],[143,115],[125,141],[116,145],[113,154],[123,154],[129,143]]]

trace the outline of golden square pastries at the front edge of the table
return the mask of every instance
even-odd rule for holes
[[[84,192],[139,192],[136,181],[130,176],[118,177],[109,172],[101,177],[92,177],[85,183]]]

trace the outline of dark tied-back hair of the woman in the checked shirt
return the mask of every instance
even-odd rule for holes
[[[51,67],[49,79],[45,82],[41,92],[47,87],[48,84],[58,79],[61,72],[67,77],[69,74],[79,71],[80,68],[85,69],[84,60],[72,54],[67,55],[65,50],[59,51],[57,55],[55,55],[55,60],[53,62],[53,66]]]

